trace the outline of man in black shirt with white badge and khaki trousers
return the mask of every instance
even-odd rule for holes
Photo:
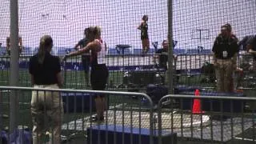
[[[215,38],[212,51],[214,53],[217,91],[232,92],[234,90],[232,74],[237,68],[239,47],[238,38],[232,34],[230,24],[221,27],[221,34]]]

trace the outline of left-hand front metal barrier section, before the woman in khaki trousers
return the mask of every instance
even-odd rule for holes
[[[10,105],[14,93],[17,94],[16,105]],[[104,94],[107,99],[104,120],[93,121],[96,112],[94,98],[99,94]],[[10,110],[16,110],[16,119],[11,117]],[[39,122],[34,130],[38,133],[42,130],[40,138],[43,142],[56,140],[54,130],[47,128],[60,125],[61,139],[66,143],[128,141],[153,144],[153,104],[148,95],[141,93],[0,86],[0,115],[0,143],[8,140],[31,143],[33,119]],[[58,118],[62,119],[62,124]],[[11,127],[15,128],[14,131],[10,130]],[[58,135],[56,129],[55,136]]]

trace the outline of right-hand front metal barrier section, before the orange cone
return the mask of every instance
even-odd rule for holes
[[[182,144],[255,143],[256,98],[228,95],[163,97],[158,102],[158,143],[163,130],[177,133]]]

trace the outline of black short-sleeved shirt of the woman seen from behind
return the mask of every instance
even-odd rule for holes
[[[38,63],[38,54],[30,58],[30,74],[34,75],[34,84],[51,85],[57,84],[57,74],[61,71],[59,58],[46,52],[42,64]]]

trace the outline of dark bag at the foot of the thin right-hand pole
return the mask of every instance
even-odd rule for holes
[[[146,94],[150,96],[154,104],[157,104],[163,96],[168,94],[168,87],[149,84],[146,86]]]

